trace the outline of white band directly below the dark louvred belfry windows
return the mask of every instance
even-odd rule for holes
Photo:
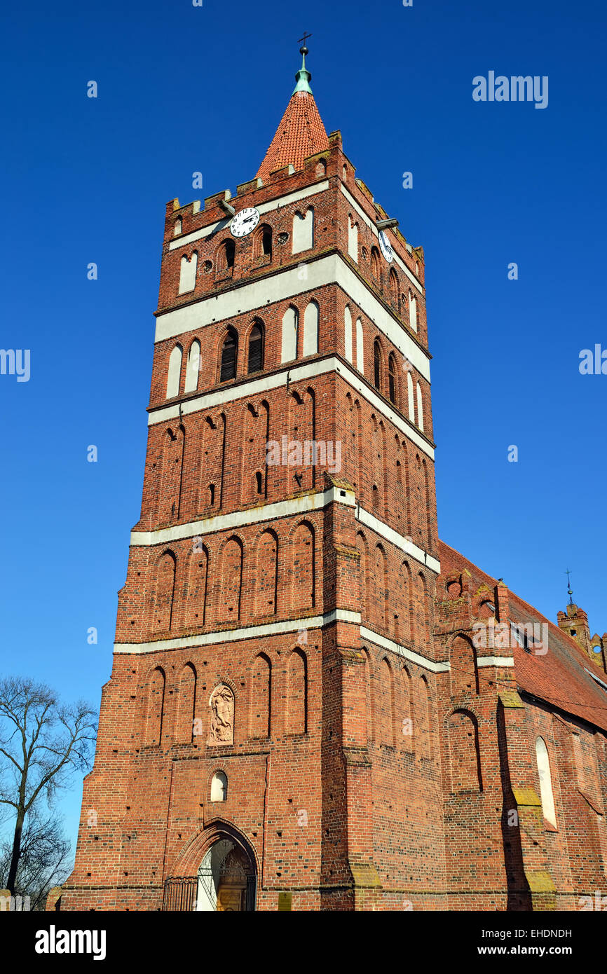
[[[179,419],[180,416],[187,416],[191,413],[198,413],[206,409],[215,409],[217,406],[222,406],[227,402],[236,402],[238,399],[246,399],[251,396],[269,393],[273,389],[281,389],[286,386],[287,375],[289,383],[293,383],[315,379],[317,376],[325,375],[327,372],[337,372],[357,393],[364,396],[373,409],[381,413],[387,420],[390,420],[405,436],[408,436],[427,457],[430,457],[431,460],[435,459],[433,447],[428,445],[421,433],[412,424],[407,423],[405,419],[399,416],[396,410],[392,409],[390,404],[381,395],[374,393],[371,388],[366,386],[353,367],[344,364],[344,362],[334,357],[315,359],[314,361],[301,362],[300,364],[294,362],[292,365],[285,362],[285,366],[281,372],[273,372],[272,375],[264,376],[261,379],[251,379],[249,382],[243,382],[238,386],[219,389],[213,393],[201,393],[191,399],[187,399],[180,404],[181,412],[179,412],[179,405],[161,406],[160,409],[155,409],[149,414],[147,423],[148,426],[154,426],[156,423],[167,423],[169,420]]]

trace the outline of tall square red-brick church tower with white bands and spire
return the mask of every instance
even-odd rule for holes
[[[141,516],[61,909],[402,909],[412,872],[444,880],[424,254],[300,53],[255,177],[167,206]]]

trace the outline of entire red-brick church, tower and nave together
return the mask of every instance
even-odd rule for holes
[[[49,909],[576,909],[607,882],[607,642],[438,542],[423,250],[380,242],[309,78],[236,197],[167,206],[141,516]]]

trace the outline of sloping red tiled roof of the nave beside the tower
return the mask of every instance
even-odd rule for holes
[[[496,579],[448,544],[439,542],[438,545],[443,575],[467,570],[472,578],[470,590],[473,593],[483,583],[490,588],[497,584]],[[596,673],[599,680],[607,683],[602,669],[592,662],[575,639],[510,589],[509,604],[512,622],[540,622],[549,626],[548,653],[545,655],[527,653],[514,646],[514,673],[519,689],[607,731],[607,691],[590,676],[590,673]]]

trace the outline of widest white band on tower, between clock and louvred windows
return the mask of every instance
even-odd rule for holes
[[[302,263],[306,263],[302,261]],[[210,294],[192,304],[165,312],[156,318],[156,342],[176,338],[187,331],[205,328],[215,321],[235,318],[256,312],[263,315],[265,305],[287,301],[298,294],[336,283],[358,305],[366,318],[390,339],[417,371],[430,382],[430,360],[425,352],[360,281],[341,254],[332,253],[320,260],[306,263],[306,277],[302,279],[299,266],[287,267],[261,281],[250,281],[229,291]],[[353,317],[356,316],[353,315]]]

